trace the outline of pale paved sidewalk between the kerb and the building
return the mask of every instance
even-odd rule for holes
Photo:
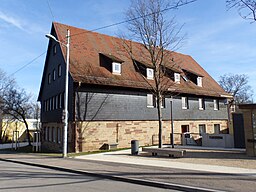
[[[197,164],[175,163],[175,159],[172,158],[131,156],[129,150],[67,159],[34,154],[0,153],[0,160],[181,191],[256,189],[255,169],[212,165],[201,165],[203,168],[200,168]]]

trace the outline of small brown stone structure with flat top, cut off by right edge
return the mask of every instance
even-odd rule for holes
[[[244,118],[246,153],[256,156],[256,104],[241,104],[238,107]]]

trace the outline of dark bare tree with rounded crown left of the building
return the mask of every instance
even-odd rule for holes
[[[25,124],[29,145],[31,145],[28,123],[26,118],[31,113],[30,96],[22,89],[9,87],[5,89],[2,96],[1,110],[9,118],[18,120]]]

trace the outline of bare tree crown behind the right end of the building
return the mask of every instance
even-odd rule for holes
[[[234,96],[234,101],[238,103],[251,103],[253,91],[248,85],[248,76],[244,74],[224,74],[220,76],[220,86]]]

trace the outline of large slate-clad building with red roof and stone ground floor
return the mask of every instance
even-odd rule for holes
[[[71,33],[69,151],[98,150],[106,144],[129,147],[133,139],[142,146],[156,144],[153,67],[143,45],[60,23],[53,23],[51,34],[65,42],[67,29]],[[132,47],[132,59],[124,45]],[[191,56],[167,50],[166,55],[170,65],[164,77],[169,81],[162,106],[163,143],[170,143],[171,100],[176,144],[185,132],[195,140],[205,132],[228,132],[229,95]],[[50,40],[38,100],[43,146],[55,151],[62,146],[65,58],[66,47]]]

